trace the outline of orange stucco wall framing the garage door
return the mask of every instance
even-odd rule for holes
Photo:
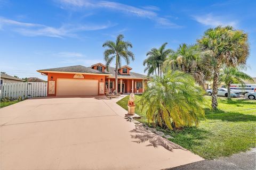
[[[55,81],[55,94],[49,94],[49,89],[47,89],[47,96],[56,96],[56,91],[57,91],[57,79],[62,78],[62,79],[74,79],[75,74],[64,74],[64,73],[48,73],[48,83],[49,81]],[[105,82],[105,75],[87,75],[83,74],[84,78],[83,79],[91,79],[91,80],[98,80],[98,83],[100,82]],[[100,85],[98,85],[100,87]],[[49,88],[49,84],[47,86]],[[104,94],[99,94],[99,89],[98,89],[98,95],[104,95]]]

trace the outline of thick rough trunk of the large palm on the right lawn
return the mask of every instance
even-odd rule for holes
[[[218,100],[217,100],[217,94],[218,94],[218,86],[219,86],[219,71],[220,71],[220,65],[221,63],[218,61],[217,66],[214,67],[214,73],[213,73],[213,87],[212,87],[212,108],[217,109],[218,107]]]

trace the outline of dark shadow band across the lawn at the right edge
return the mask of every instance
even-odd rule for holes
[[[228,121],[228,122],[256,121],[256,116],[242,114],[239,112],[208,114],[208,115],[205,115],[205,117],[209,120],[222,120],[222,121]]]

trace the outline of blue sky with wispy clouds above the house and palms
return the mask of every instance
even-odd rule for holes
[[[46,79],[36,70],[104,63],[102,44],[122,33],[133,44],[130,66],[143,73],[151,48],[167,42],[175,50],[196,43],[207,28],[233,25],[249,34],[246,72],[256,77],[255,9],[256,1],[236,0],[0,0],[0,69]]]

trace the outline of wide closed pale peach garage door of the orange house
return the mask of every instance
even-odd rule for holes
[[[57,96],[98,95],[98,80],[57,79]]]

